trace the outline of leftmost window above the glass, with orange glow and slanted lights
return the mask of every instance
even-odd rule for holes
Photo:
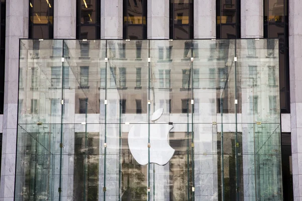
[[[53,0],[29,1],[29,38],[53,38]]]

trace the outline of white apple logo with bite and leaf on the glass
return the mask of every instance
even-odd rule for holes
[[[163,115],[164,109],[154,112],[151,121],[155,122]],[[173,129],[168,122],[150,124],[150,163],[166,165],[175,150],[168,143],[169,132]],[[138,122],[132,126],[128,134],[128,145],[132,156],[141,165],[148,164],[148,124]]]

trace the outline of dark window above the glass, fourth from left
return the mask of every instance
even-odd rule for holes
[[[193,0],[170,0],[170,39],[193,39],[193,16]]]

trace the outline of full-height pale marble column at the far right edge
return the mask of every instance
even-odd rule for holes
[[[302,2],[289,3],[289,80],[291,156],[294,200],[302,199]]]

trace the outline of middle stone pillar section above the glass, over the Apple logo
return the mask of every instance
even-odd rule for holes
[[[148,1],[148,39],[169,39],[169,2],[169,0]]]

